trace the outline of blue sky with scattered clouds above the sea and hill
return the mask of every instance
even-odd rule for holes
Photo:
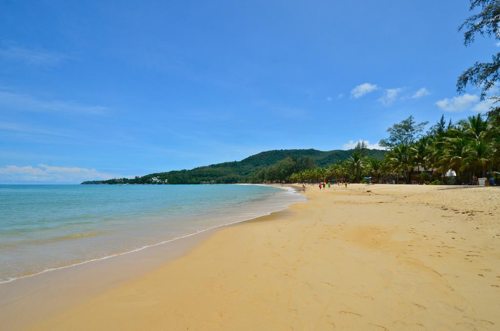
[[[106,2],[106,3],[104,3]],[[349,2],[349,3],[347,3]],[[376,142],[487,109],[466,0],[2,1],[0,183],[76,183]]]

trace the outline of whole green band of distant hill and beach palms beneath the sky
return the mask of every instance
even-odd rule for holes
[[[487,170],[500,168],[500,115],[490,112],[486,118],[468,116],[455,125],[446,126],[445,118],[433,129],[421,135],[423,124],[415,124],[412,116],[388,129],[394,137],[387,141],[401,141],[389,150],[366,149],[362,142],[352,150],[320,151],[316,149],[280,149],[251,155],[241,161],[201,166],[191,170],[151,173],[135,178],[113,178],[83,183],[104,184],[198,184],[236,182],[319,182],[338,178],[364,182],[363,176],[392,179],[395,173],[404,173],[406,182],[427,182],[426,171],[443,178],[452,169],[456,178],[448,183],[460,184],[472,175],[485,176]],[[418,137],[415,139],[415,137]],[[404,143],[403,143],[404,142]],[[363,153],[366,153],[363,156]],[[415,171],[422,172],[413,177]],[[388,177],[392,175],[392,177]],[[439,180],[434,180],[439,183]]]

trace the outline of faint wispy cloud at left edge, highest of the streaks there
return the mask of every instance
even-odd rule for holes
[[[58,53],[16,46],[0,48],[0,57],[34,65],[55,65],[68,58],[66,55]]]

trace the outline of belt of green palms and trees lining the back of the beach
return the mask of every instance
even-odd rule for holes
[[[379,144],[388,149],[383,159],[366,154],[363,143],[344,161],[298,171],[288,177],[295,182],[318,182],[342,178],[359,182],[364,176],[416,182],[470,182],[473,176],[500,168],[500,115],[492,109],[446,125],[444,116],[424,134],[427,122],[416,123],[413,116],[387,129],[389,136]],[[453,178],[446,172],[453,170]],[[448,172],[449,173],[449,172]],[[415,174],[417,176],[415,176]],[[494,175],[493,175],[494,176]]]

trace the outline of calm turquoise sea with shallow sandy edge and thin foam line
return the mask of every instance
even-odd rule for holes
[[[147,248],[305,200],[261,185],[0,185],[0,282]]]

